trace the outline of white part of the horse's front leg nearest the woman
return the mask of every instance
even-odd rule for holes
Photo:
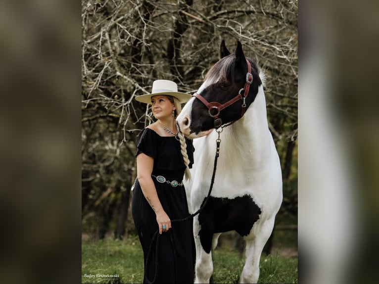
[[[195,265],[195,281],[194,283],[209,283],[209,279],[213,274],[212,251],[207,253],[201,245],[199,236],[198,218],[193,220],[193,235],[196,245],[196,265]],[[212,239],[212,236],[210,236]]]

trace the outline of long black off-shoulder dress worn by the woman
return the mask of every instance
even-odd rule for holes
[[[192,141],[186,138],[190,167],[193,163]],[[152,175],[163,176],[167,181],[183,180],[186,169],[180,151],[180,142],[175,137],[162,137],[149,128],[140,133],[137,140],[136,156],[144,153],[154,158]],[[189,216],[186,191],[183,185],[172,187],[160,183],[152,177],[159,200],[170,220]],[[141,186],[136,180],[132,197],[132,215],[140,237],[144,266],[151,240],[158,230],[156,215],[142,194]],[[172,228],[159,235],[158,269],[154,283],[193,283],[195,249],[193,240],[192,218],[187,221],[172,223]],[[153,281],[155,275],[155,245],[151,249],[147,278]],[[145,267],[146,270],[146,267]],[[146,277],[143,279],[146,283]]]

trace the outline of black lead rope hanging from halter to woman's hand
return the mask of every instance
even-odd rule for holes
[[[203,205],[195,213],[190,214],[189,216],[187,216],[186,218],[183,218],[183,219],[174,219],[174,220],[171,220],[171,223],[182,222],[182,221],[186,221],[186,220],[188,220],[190,218],[193,218],[194,216],[196,216],[197,214],[199,214],[201,212],[201,210],[203,210],[203,208],[205,207],[205,204],[207,204],[209,196],[211,195],[211,192],[212,192],[212,189],[213,189],[214,181],[215,181],[217,160],[218,160],[218,157],[220,155],[220,143],[221,143],[220,133],[223,131],[223,129],[224,128],[221,128],[221,130],[215,129],[216,132],[217,132],[217,134],[218,134],[218,138],[216,140],[216,155],[215,155],[215,161],[214,161],[214,165],[213,165],[213,173],[212,173],[211,185],[210,185],[209,190],[208,190],[208,195],[205,198],[205,202],[203,203]],[[151,239],[150,247],[149,247],[149,250],[148,250],[147,256],[146,256],[145,279],[146,279],[146,282],[148,284],[154,283],[155,279],[157,277],[157,274],[158,274],[158,265],[159,265],[159,263],[158,263],[158,252],[159,252],[159,237],[160,237],[160,235],[158,233],[159,233],[159,229],[155,232],[153,238]],[[173,236],[171,234],[171,231],[168,231],[167,233],[169,233],[169,235],[170,235],[171,248],[172,248],[173,254],[174,254],[175,283],[178,283],[178,275],[177,275],[177,269],[176,269],[176,266],[177,266],[176,251],[174,249],[174,238],[173,238]],[[148,271],[148,267],[149,267],[149,264],[150,264],[151,251],[152,251],[152,247],[154,245],[153,244],[154,241],[156,242],[155,243],[155,271],[154,271],[154,278],[153,278],[152,281],[150,281],[148,279],[148,277],[147,277],[147,271]]]

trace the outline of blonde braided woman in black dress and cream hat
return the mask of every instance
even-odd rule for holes
[[[176,83],[168,80],[154,81],[151,94],[136,97],[151,103],[157,119],[142,130],[136,150],[132,215],[143,249],[143,283],[193,283],[192,219],[171,223],[190,215],[183,178],[190,178],[193,146],[175,121],[181,103],[190,98],[177,92]],[[160,234],[157,261],[155,242],[150,249],[156,231]]]

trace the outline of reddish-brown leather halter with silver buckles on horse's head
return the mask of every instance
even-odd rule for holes
[[[208,102],[203,96],[199,95],[198,93],[195,93],[192,95],[192,96],[197,97],[208,108],[209,116],[215,119],[215,121],[213,122],[215,129],[218,129],[222,125],[222,119],[219,118],[220,111],[223,110],[224,108],[234,104],[239,99],[242,99],[241,117],[245,114],[245,110],[246,110],[245,98],[249,94],[250,85],[253,82],[253,75],[251,74],[250,62],[247,59],[246,59],[246,62],[247,62],[247,73],[246,73],[245,85],[243,86],[242,89],[239,90],[238,95],[236,95],[234,98],[228,100],[226,103],[221,104],[217,101]],[[242,91],[244,91],[243,95],[241,95]],[[212,115],[211,110],[213,110],[213,109],[217,110],[217,114]],[[230,123],[230,124],[232,124],[232,123]],[[230,124],[228,124],[228,125],[230,125]]]

